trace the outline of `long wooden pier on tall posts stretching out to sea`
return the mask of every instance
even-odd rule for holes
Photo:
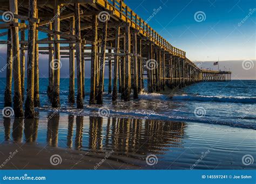
[[[199,69],[186,58],[185,51],[161,37],[122,0],[2,0],[0,13],[0,29],[5,30],[0,37],[8,36],[0,41],[8,45],[5,106],[12,104],[9,91],[13,74],[16,117],[23,117],[23,103],[25,118],[32,118],[34,107],[40,105],[38,61],[42,54],[49,55],[48,96],[53,108],[62,103],[59,85],[63,58],[69,58],[70,103],[75,103],[76,69],[79,109],[83,109],[85,94],[85,62],[91,62],[90,104],[104,103],[105,66],[109,67],[108,93],[112,93],[113,101],[118,100],[118,93],[122,100],[130,101],[132,91],[137,99],[144,88],[153,93],[200,81],[231,80],[230,72]],[[39,39],[41,32],[48,36]],[[25,52],[28,66],[24,100]]]

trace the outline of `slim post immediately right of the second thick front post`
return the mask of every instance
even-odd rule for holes
[[[36,18],[38,18],[38,9],[36,9]],[[38,24],[36,23],[36,41],[38,40]],[[34,107],[39,107],[39,48],[35,45],[35,84],[34,84]]]

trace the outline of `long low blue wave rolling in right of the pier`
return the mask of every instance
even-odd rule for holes
[[[190,96],[190,95],[175,95],[172,100],[181,101],[202,101],[202,102],[230,102],[230,103],[256,103],[256,97],[225,97],[225,96]]]

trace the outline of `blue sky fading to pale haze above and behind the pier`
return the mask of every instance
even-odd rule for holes
[[[240,79],[256,79],[255,0],[126,0],[124,2],[142,19],[147,20],[148,24],[169,43],[185,51],[191,61],[197,63],[228,61],[223,62],[229,63],[229,67],[226,68],[235,70]],[[156,15],[152,16],[156,11]],[[43,34],[40,37],[43,37]],[[0,37],[0,40],[3,38]],[[0,45],[1,60],[5,60],[5,53],[6,48]],[[43,62],[47,61],[45,55],[40,56],[39,67],[42,68],[41,72],[44,75],[48,69]],[[252,67],[244,69],[243,61],[250,62]],[[0,63],[0,67],[3,63],[5,61]],[[90,68],[90,63],[86,63],[85,68]],[[64,72],[61,73],[61,77],[67,76],[68,60],[64,60],[62,70]],[[0,76],[2,75],[0,73]],[[90,74],[86,76],[89,77]]]

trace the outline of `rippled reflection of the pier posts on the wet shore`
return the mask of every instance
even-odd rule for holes
[[[56,112],[48,114],[46,119],[14,119],[12,132],[11,119],[4,118],[3,125],[6,141],[11,141],[12,133],[12,139],[17,143],[36,142],[99,153],[113,150],[114,154],[131,157],[164,154],[171,147],[181,146],[185,128],[185,123],[60,116]]]

